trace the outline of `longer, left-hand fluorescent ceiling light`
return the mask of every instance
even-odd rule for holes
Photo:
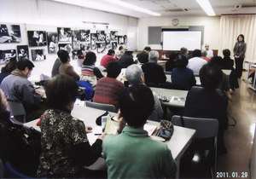
[[[125,3],[125,2],[122,2],[122,1],[119,1],[119,0],[104,0],[104,1],[106,1],[108,3],[117,4],[117,5],[122,6],[124,8],[136,10],[136,11],[139,11],[139,12],[142,12],[142,13],[146,13],[146,14],[150,14],[150,15],[154,15],[154,16],[160,16],[161,15],[161,14],[155,13],[155,12],[153,12],[151,10],[143,9],[143,8],[138,7],[138,6],[132,5],[130,3]]]

